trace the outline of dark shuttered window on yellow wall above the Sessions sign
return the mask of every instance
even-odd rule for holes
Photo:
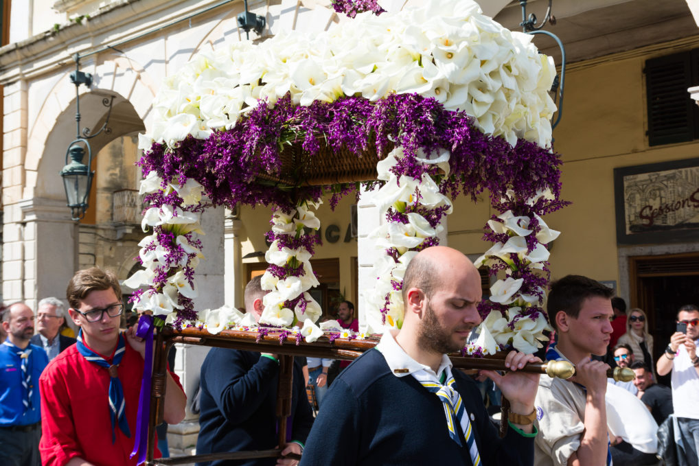
[[[699,85],[699,50],[646,61],[649,145],[699,138],[699,108],[687,92]]]

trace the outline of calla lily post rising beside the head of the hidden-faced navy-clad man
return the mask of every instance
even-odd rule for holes
[[[318,336],[312,330],[316,330],[315,321],[322,310],[308,293],[319,282],[310,265],[312,247],[304,241],[308,240],[304,236],[307,236],[305,228],[310,228],[311,235],[320,228],[320,220],[310,210],[310,207],[317,209],[319,204],[304,201],[291,212],[274,212],[271,221],[274,241],[265,254],[269,266],[261,278],[262,289],[269,293],[262,301],[264,311],[259,323],[289,327],[303,322],[308,341]]]

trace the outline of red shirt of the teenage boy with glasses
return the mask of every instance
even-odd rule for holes
[[[109,373],[105,367],[87,361],[73,345],[51,361],[39,379],[42,430],[39,451],[43,466],[63,466],[75,456],[96,465],[136,466],[138,455],[134,458],[129,455],[136,436],[143,358],[129,343],[125,348],[118,374],[124,388],[131,437],[124,435],[117,425],[112,443]],[[103,357],[111,362],[112,356]],[[180,385],[178,377],[174,374],[173,377]],[[156,447],[155,458],[160,456]]]

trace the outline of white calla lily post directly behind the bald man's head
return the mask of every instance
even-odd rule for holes
[[[360,238],[359,261],[368,259],[371,263],[370,279],[360,282],[363,298],[363,319],[360,326],[366,325],[369,333],[383,333],[387,328],[401,328],[403,325],[403,274],[410,260],[419,249],[427,245],[445,244],[446,217],[433,227],[420,214],[406,211],[419,205],[426,210],[447,207],[445,214],[452,212],[449,198],[439,192],[439,187],[428,175],[420,180],[408,176],[396,177],[391,168],[401,163],[403,148],[396,147],[382,161],[377,163],[378,179],[386,181],[378,191],[362,193],[363,198],[370,198],[376,206],[380,226]],[[428,158],[421,151],[415,159],[422,163],[437,164],[449,174],[449,152],[442,151],[434,158]],[[366,196],[368,194],[369,196]],[[360,212],[361,212],[360,206]],[[405,222],[389,220],[387,214],[400,212],[405,214]],[[361,227],[361,221],[359,222]],[[360,232],[361,236],[361,232]],[[440,238],[441,237],[441,238]],[[362,252],[365,252],[364,258]],[[392,252],[391,255],[388,252]],[[368,256],[368,257],[367,257]]]

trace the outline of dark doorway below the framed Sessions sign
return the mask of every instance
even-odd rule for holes
[[[648,315],[655,362],[675,333],[679,307],[699,305],[699,252],[633,256],[629,271],[630,308],[640,307]],[[670,385],[669,376],[659,379]]]

